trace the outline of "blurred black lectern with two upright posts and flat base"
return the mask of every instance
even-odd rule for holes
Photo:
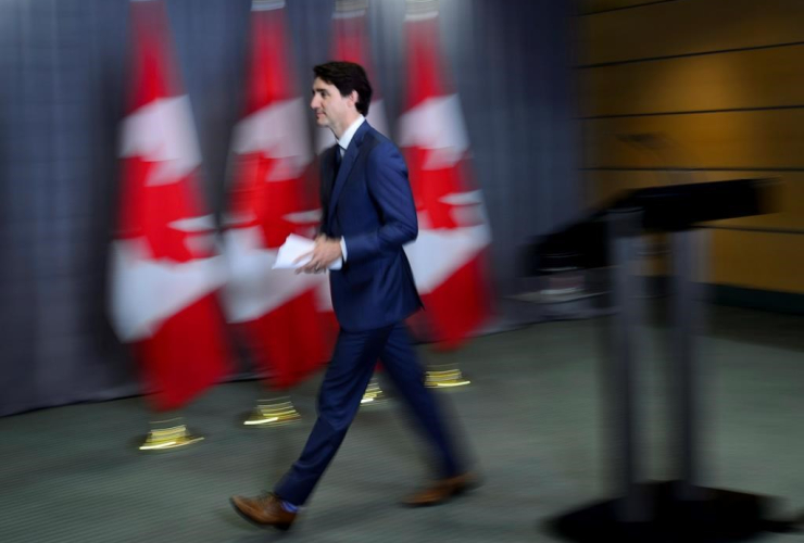
[[[613,414],[613,477],[616,497],[564,514],[551,521],[561,535],[579,542],[663,543],[742,541],[768,527],[768,500],[701,485],[696,453],[699,384],[694,331],[701,321],[701,262],[695,236],[701,223],[769,213],[770,179],[740,179],[636,190],[586,220],[548,236],[528,249],[530,274],[551,269],[611,266],[615,305],[607,368]],[[670,238],[673,356],[671,426],[676,480],[645,482],[640,477],[640,430],[636,368],[636,327],[642,301],[635,295],[636,243],[645,232]]]

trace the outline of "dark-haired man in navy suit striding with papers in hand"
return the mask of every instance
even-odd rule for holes
[[[407,498],[437,505],[476,483],[461,463],[432,393],[425,388],[404,319],[422,307],[402,247],[418,225],[407,169],[397,147],[365,121],[372,87],[351,62],[315,66],[310,106],[337,144],[322,155],[322,230],[301,273],[330,272],[340,334],[318,395],[318,418],[299,459],[261,497],[235,496],[235,509],[261,526],[287,530],[335,457],[378,358],[432,445],[436,482]]]

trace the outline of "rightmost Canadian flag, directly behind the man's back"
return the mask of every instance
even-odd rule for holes
[[[434,2],[409,2],[407,108],[399,144],[410,168],[419,233],[407,252],[429,339],[454,348],[491,314],[486,252],[491,231],[482,194],[469,179],[468,136],[458,97],[444,84],[438,12]]]

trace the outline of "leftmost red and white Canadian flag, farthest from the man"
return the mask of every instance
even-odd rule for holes
[[[171,63],[162,3],[131,2],[131,30],[110,316],[120,339],[135,346],[155,408],[175,409],[228,369],[215,298],[225,269],[197,188],[201,155],[190,103]]]

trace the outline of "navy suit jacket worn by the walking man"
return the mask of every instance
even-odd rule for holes
[[[329,273],[341,328],[362,331],[403,320],[422,307],[402,245],[418,236],[407,167],[388,138],[364,122],[337,178],[338,146],[322,156],[322,231],[342,237],[347,262]]]

